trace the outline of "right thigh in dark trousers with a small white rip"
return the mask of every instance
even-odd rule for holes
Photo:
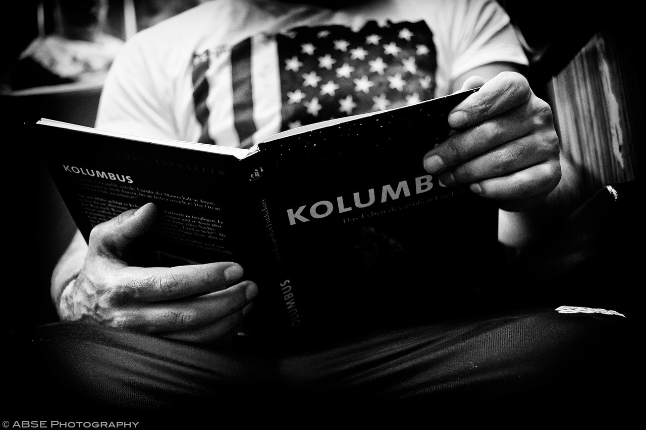
[[[381,331],[290,354],[279,373],[303,398],[339,405],[622,407],[634,338],[627,318],[602,311],[541,307]]]

